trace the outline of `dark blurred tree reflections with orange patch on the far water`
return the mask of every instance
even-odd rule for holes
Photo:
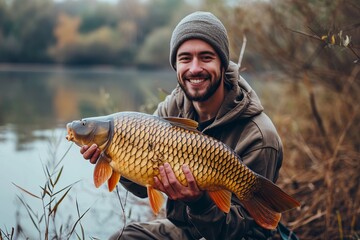
[[[0,133],[10,128],[22,150],[37,138],[34,130],[112,111],[138,111],[159,100],[158,88],[169,91],[175,83],[172,71],[0,69]]]

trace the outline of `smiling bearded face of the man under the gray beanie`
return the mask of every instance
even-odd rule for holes
[[[208,100],[222,83],[220,57],[211,45],[199,39],[180,45],[176,73],[179,85],[191,101]]]

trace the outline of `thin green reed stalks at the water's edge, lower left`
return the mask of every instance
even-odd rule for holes
[[[85,239],[85,230],[81,224],[81,219],[90,208],[81,212],[76,201],[76,213],[74,213],[76,219],[74,221],[71,221],[70,216],[67,221],[58,218],[60,206],[68,198],[70,191],[77,183],[74,182],[65,187],[61,186],[61,179],[64,176],[62,162],[70,149],[69,147],[59,159],[57,158],[57,146],[59,141],[62,140],[63,138],[56,139],[55,137],[49,139],[49,158],[42,164],[46,181],[40,186],[40,193],[30,192],[13,183],[19,190],[17,199],[25,209],[31,227],[38,235],[36,239],[69,239],[72,236],[76,236],[78,239]],[[40,209],[37,208],[38,205],[33,201],[29,201],[29,198],[40,202]],[[20,222],[17,223],[16,229],[12,227],[11,231],[0,231],[0,239],[30,239],[30,236],[31,234],[26,232]]]

